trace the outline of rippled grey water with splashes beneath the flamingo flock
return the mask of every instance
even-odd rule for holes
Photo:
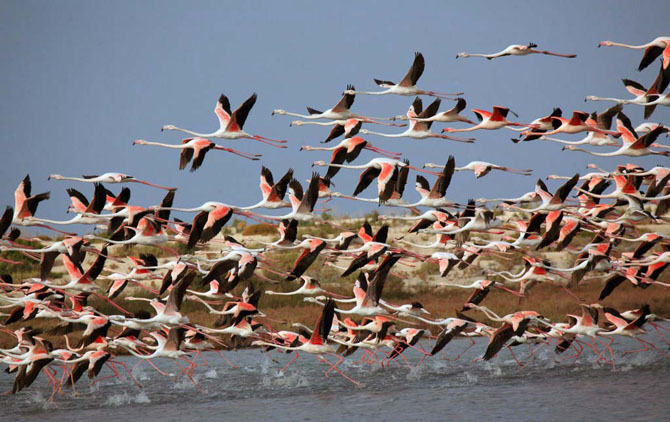
[[[657,336],[653,339],[660,343]],[[445,349],[447,357],[455,357],[469,344],[452,342]],[[197,368],[194,375],[202,392],[183,375],[175,382],[142,363],[133,371],[142,389],[127,376],[93,386],[84,376],[77,383],[78,395],[70,390],[49,402],[51,389],[40,376],[28,390],[0,396],[0,420],[667,421],[670,360],[653,350],[622,356],[622,351],[638,346],[617,338],[616,371],[598,364],[589,350],[577,364],[556,362],[546,348],[523,368],[507,350],[491,362],[473,363],[486,347],[483,339],[458,361],[436,356],[417,366],[421,354],[408,350],[405,355],[412,369],[400,358],[398,365],[384,369],[368,365],[358,352],[340,367],[363,384],[360,388],[334,372],[325,378],[328,367],[308,354],[301,354],[280,373],[294,355],[272,353],[276,360],[272,361],[258,350],[227,352],[226,357],[239,366],[234,369],[216,353],[207,353],[208,365]],[[515,352],[526,360],[526,346]],[[137,363],[131,357],[119,360],[130,367]],[[179,373],[169,360],[156,364],[165,372]],[[101,376],[110,374],[105,369]],[[10,389],[12,381],[13,376],[2,373],[0,389]]]

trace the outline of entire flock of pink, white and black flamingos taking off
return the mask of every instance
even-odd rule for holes
[[[654,353],[670,358],[670,354],[657,345],[658,341],[643,338],[650,334],[651,327],[666,342],[661,330],[668,328],[658,324],[663,318],[655,315],[649,305],[617,311],[599,303],[582,303],[581,315],[566,315],[564,321],[550,321],[533,310],[500,316],[482,305],[492,289],[504,290],[510,294],[510,300],[517,300],[514,296],[528,296],[531,287],[539,283],[559,286],[573,298],[571,300],[579,300],[571,290],[583,283],[601,282],[604,287],[600,300],[617,294],[615,290],[622,283],[632,283],[639,288],[669,287],[660,282],[659,277],[670,265],[670,236],[654,231],[653,226],[667,224],[670,217],[670,167],[644,169],[625,164],[602,170],[591,165],[595,169],[592,173],[549,176],[550,179],[566,180],[553,193],[539,179],[534,189],[518,198],[479,198],[459,204],[447,195],[454,172],[472,171],[480,178],[491,171],[529,176],[532,170],[483,161],[457,167],[453,156],[444,163],[426,163],[419,168],[410,165],[401,154],[373,145],[361,136],[437,138],[472,143],[474,138],[456,134],[510,129],[516,131],[512,141],[518,144],[558,142],[564,145],[564,150],[584,151],[596,156],[670,155],[669,146],[657,142],[662,134],[667,136],[666,127],[647,122],[634,127],[624,114],[624,106],[630,105],[630,111],[626,110],[628,114],[635,112],[633,106],[642,106],[644,117],[648,118],[656,106],[670,105],[669,94],[663,94],[670,82],[670,37],[659,37],[640,46],[610,41],[599,46],[643,49],[639,70],[652,66],[657,58],[661,58],[660,71],[650,88],[624,80],[634,99],[586,97],[592,101],[615,102],[599,114],[574,111],[566,118],[556,108],[530,123],[519,123],[508,120],[510,113],[514,114],[509,108],[493,106],[490,110],[472,109],[477,121],[471,121],[463,116],[466,108],[466,101],[460,97],[463,93],[441,93],[417,87],[425,65],[421,53],[415,54],[411,68],[399,83],[375,79],[380,91],[358,91],[350,85],[339,102],[326,111],[308,107],[308,114],[303,115],[274,110],[273,115],[301,119],[293,121],[292,126],[326,126],[330,131],[323,143],[334,144],[335,139],[343,139],[332,147],[300,148],[301,151],[331,152],[329,161],[313,162],[313,167],[327,169],[324,175],[314,172],[306,188],[293,177],[292,169],[287,169],[275,181],[272,172],[262,167],[261,200],[250,206],[208,201],[192,208],[177,208],[173,207],[175,188],[130,175],[105,173],[79,178],[53,174],[49,177],[52,180],[93,185],[90,199],[79,190],[67,189],[71,200],[68,211],[74,217],[67,221],[53,221],[37,216],[38,206],[49,199],[49,192],[33,194],[30,177],[26,176],[16,189],[14,207],[8,206],[0,219],[0,260],[7,268],[19,269],[21,262],[10,259],[6,253],[21,253],[39,261],[40,272],[39,277],[27,279],[14,279],[11,271],[2,275],[0,309],[5,312],[5,317],[0,327],[5,335],[15,339],[13,347],[0,350],[0,361],[6,372],[15,376],[10,393],[29,387],[43,374],[53,388],[53,399],[57,393],[74,389],[84,373],[92,379],[105,366],[111,370],[112,377],[121,376],[119,368],[123,367],[129,378],[141,387],[132,371],[118,359],[121,354],[131,354],[137,357],[137,365],[147,362],[163,375],[168,374],[154,361],[170,359],[179,366],[181,374],[199,388],[193,379],[194,371],[200,366],[196,363],[199,357],[206,352],[224,356],[222,349],[243,346],[260,348],[266,354],[293,353],[293,359],[282,371],[301,354],[314,355],[327,365],[326,377],[337,373],[355,384],[359,381],[346,375],[339,364],[359,349],[361,362],[381,362],[383,366],[395,363],[398,357],[405,359],[403,352],[410,348],[423,358],[436,355],[457,337],[468,338],[472,344],[474,337],[488,338],[486,352],[479,358],[484,361],[494,359],[506,348],[511,351],[519,344],[540,344],[540,347],[549,345],[556,355],[564,353],[564,359],[575,361],[586,350],[595,355],[597,362],[615,368],[611,345],[620,337],[632,338],[642,346],[626,353],[654,349]],[[536,47],[533,43],[512,45],[495,54],[460,53],[457,58],[494,59],[529,54],[575,57],[536,50]],[[381,118],[353,113],[351,107],[356,95],[415,98],[405,115]],[[421,96],[433,100],[424,108]],[[456,105],[440,112],[443,100],[453,100]],[[260,159],[258,154],[223,147],[210,140],[249,139],[287,148],[285,140],[244,131],[255,102],[256,94],[233,111],[228,98],[221,95],[214,109],[220,124],[218,130],[199,133],[166,125],[162,130],[181,131],[192,137],[183,139],[180,144],[136,140],[133,145],[178,149],[179,168],[185,169],[190,163],[190,171],[204,165],[205,155],[213,150],[257,161]],[[445,127],[440,132],[433,132],[434,123],[466,126]],[[406,126],[406,129],[396,133],[377,132],[363,129],[363,124]],[[577,141],[554,138],[561,134],[584,134],[585,137]],[[444,144],[445,150],[447,145]],[[577,145],[615,149],[596,152],[595,149],[579,149]],[[363,150],[380,157],[365,164],[353,164]],[[332,180],[340,169],[362,170],[351,195],[331,190],[334,187]],[[403,198],[410,171],[418,173],[415,189],[420,199],[416,201]],[[432,183],[430,179],[433,179]],[[374,181],[376,197],[360,197]],[[158,205],[131,205],[129,183],[164,189],[167,193]],[[112,184],[126,186],[113,192],[105,187]],[[610,187],[613,190],[610,191]],[[570,197],[571,193],[574,197]],[[315,213],[317,202],[333,198],[406,208],[412,213],[380,215],[382,223],[376,229],[369,222],[360,227],[341,227]],[[495,203],[493,209],[487,208],[489,203]],[[290,211],[283,215],[256,212],[263,208],[287,208]],[[499,212],[494,212],[495,208]],[[195,216],[190,221],[182,221],[171,217],[174,212],[194,213]],[[256,248],[252,248],[244,244],[245,239],[239,241],[221,235],[222,228],[234,215],[274,222],[277,239],[260,245],[255,242]],[[389,226],[383,224],[392,219],[411,221],[411,227],[403,236],[392,239]],[[298,237],[299,225],[306,222],[330,224],[341,233],[334,238]],[[95,230],[102,227],[104,234],[98,231],[97,235],[80,236],[56,228],[72,224],[91,225]],[[652,231],[640,231],[642,224],[651,226]],[[57,240],[43,241],[42,247],[29,246],[34,243],[24,241],[33,239],[22,238],[20,227],[31,226],[57,232],[58,236],[53,238]],[[435,240],[417,243],[410,237],[425,233],[434,234]],[[571,246],[580,233],[589,236],[589,242],[579,248]],[[179,247],[175,246],[179,244]],[[622,250],[631,244],[637,245],[632,252]],[[129,256],[131,271],[115,273],[107,263],[121,261],[118,254],[123,249],[117,245],[159,248],[168,258],[161,258],[159,262],[148,253]],[[177,249],[185,252],[180,253]],[[290,250],[301,253],[292,268],[279,268],[273,257]],[[543,250],[565,251],[575,257],[574,265],[566,268],[552,263],[540,255]],[[87,255],[92,257],[88,261],[85,260]],[[478,258],[485,255],[515,260],[523,265],[518,273],[488,270],[489,279],[441,283],[472,291],[462,309],[453,315],[438,316],[441,310],[427,310],[416,301],[399,304],[383,298],[384,285],[387,279],[394,277],[392,269],[396,265],[417,261],[436,263],[439,275],[449,279],[453,268],[476,268]],[[342,276],[357,275],[351,286],[351,297],[331,293],[309,276],[310,267],[318,257],[325,258],[327,265],[341,268]],[[69,281],[51,278],[52,269],[59,260]],[[264,275],[268,273],[283,278],[282,284],[298,282],[301,286],[290,292],[266,290],[263,285],[279,283]],[[143,292],[143,297],[130,296],[130,288]],[[300,295],[323,310],[315,323],[304,325],[292,321],[292,329],[277,331],[260,307],[263,295]],[[146,308],[131,314],[124,309],[126,301],[144,301]],[[185,301],[211,314],[212,320],[216,321],[212,326],[192,323],[182,309]],[[107,313],[101,311],[101,305],[105,305]],[[32,321],[40,319],[51,321],[48,329],[31,327]],[[14,324],[17,325],[12,327]],[[436,336],[431,334],[430,326],[439,330]],[[72,337],[74,332],[80,334]],[[60,336],[64,336],[64,344],[58,348],[46,336],[54,336],[59,342]],[[431,344],[425,347],[428,342]],[[569,350],[572,352],[566,353]],[[385,354],[383,359],[377,359],[380,352]],[[524,365],[518,360],[517,363]],[[101,377],[92,382],[99,379]]]

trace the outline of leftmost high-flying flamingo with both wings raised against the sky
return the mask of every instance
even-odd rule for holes
[[[263,142],[264,144],[272,145],[277,148],[286,148],[286,145],[277,145],[285,144],[285,140],[277,140],[265,138],[260,135],[249,135],[244,132],[242,128],[244,123],[247,120],[247,116],[251,111],[252,107],[256,104],[256,94],[253,94],[251,97],[247,98],[245,102],[242,103],[235,111],[230,112],[230,102],[228,97],[221,94],[219,101],[216,103],[214,108],[214,113],[219,119],[219,129],[212,133],[198,133],[193,132],[187,129],[181,129],[174,125],[165,125],[161,128],[163,130],[178,130],[180,132],[188,133],[189,135],[197,136],[200,138],[221,138],[221,139],[253,139],[258,142]]]

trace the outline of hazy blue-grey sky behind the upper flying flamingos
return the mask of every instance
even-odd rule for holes
[[[376,90],[372,78],[398,81],[421,51],[426,70],[419,86],[442,92],[463,91],[470,108],[504,105],[529,122],[561,107],[604,110],[611,103],[584,103],[586,95],[628,98],[621,78],[647,86],[657,64],[639,73],[641,51],[596,48],[599,41],[642,44],[668,35],[670,2],[169,2],[169,1],[2,1],[0,2],[0,127],[3,154],[0,195],[13,203],[13,191],[30,173],[33,193],[49,190],[38,216],[69,218],[65,189],[89,196],[92,186],[47,181],[50,173],[98,174],[118,171],[167,186],[177,186],[175,204],[196,206],[206,200],[248,205],[260,199],[261,164],[279,177],[289,166],[301,181],[314,160],[329,153],[299,152],[317,145],[327,129],[289,127],[292,118],[271,117],[274,108],[304,113],[305,106],[332,107],[347,84]],[[496,52],[509,44],[535,42],[541,49],[576,53],[576,59],[549,56],[455,59],[458,52]],[[278,150],[250,140],[220,141],[264,154],[250,162],[221,151],[208,154],[195,173],[178,170],[178,151],[131,146],[135,139],[178,143],[177,132],[161,133],[164,124],[210,132],[218,127],[213,108],[225,93],[233,108],[251,93],[258,102],[245,129],[289,140]],[[412,99],[357,96],[353,110],[372,116],[402,114]],[[424,103],[429,102],[424,98]],[[452,102],[443,102],[442,110]],[[633,124],[642,108],[626,106]],[[657,109],[654,121],[670,124],[670,113]],[[393,132],[404,129],[367,126]],[[440,130],[442,124],[434,125]],[[506,129],[473,132],[475,144],[445,140],[384,139],[377,146],[403,152],[412,164],[457,165],[484,160],[533,168],[532,177],[492,173],[476,180],[457,174],[448,196],[517,195],[533,188],[537,177],[586,172],[587,163],[612,168],[619,162],[643,166],[670,164],[666,157],[609,159],[562,152],[555,143],[515,145]],[[575,135],[570,139],[581,139]],[[662,142],[668,142],[662,138]],[[604,148],[603,150],[611,150]],[[364,152],[358,163],[373,158]],[[321,169],[322,174],[325,169]],[[350,194],[358,171],[342,170],[336,190]],[[414,173],[405,191],[418,199]],[[432,178],[431,182],[432,182]],[[553,185],[555,186],[555,185]],[[108,186],[118,191],[118,185]],[[131,185],[132,202],[157,203],[163,191]],[[374,187],[362,196],[372,197]],[[2,205],[2,204],[0,204]],[[337,212],[376,208],[347,200],[328,203]],[[282,213],[285,210],[282,210]]]

